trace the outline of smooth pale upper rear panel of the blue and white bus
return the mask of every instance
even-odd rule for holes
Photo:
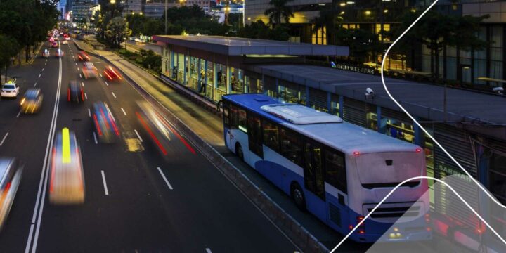
[[[358,177],[365,188],[396,187],[402,181],[422,176],[424,169],[420,153],[388,152],[368,153],[356,158]],[[403,186],[418,186],[420,180],[404,183]]]

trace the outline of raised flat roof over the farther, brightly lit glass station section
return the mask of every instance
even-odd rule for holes
[[[349,56],[348,46],[328,46],[266,39],[201,35],[155,35],[153,39],[165,44],[200,49],[226,56]]]

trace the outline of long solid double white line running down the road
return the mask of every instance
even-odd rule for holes
[[[55,97],[55,105],[53,108],[53,117],[51,119],[51,126],[49,128],[49,134],[48,134],[48,141],[46,145],[46,154],[44,156],[44,164],[42,164],[42,171],[41,171],[41,179],[39,181],[39,190],[37,191],[37,200],[35,200],[35,207],[34,207],[34,213],[32,216],[32,226],[35,225],[35,221],[37,218],[37,226],[35,228],[35,233],[32,228],[30,228],[30,233],[28,234],[28,240],[27,245],[25,247],[25,253],[30,252],[30,246],[32,245],[33,240],[33,247],[32,247],[32,253],[35,253],[37,251],[37,241],[39,240],[39,231],[41,226],[41,219],[42,219],[42,212],[44,211],[44,200],[46,199],[46,188],[47,188],[47,181],[48,181],[48,163],[49,163],[49,150],[51,150],[51,147],[53,146],[53,140],[54,140],[54,134],[56,130],[56,119],[58,119],[58,107],[60,105],[60,96],[58,96],[61,92],[61,81],[62,81],[62,60],[61,58],[58,59],[59,62],[59,68],[58,68],[58,86],[56,88],[56,97]],[[39,215],[37,215],[37,213]]]

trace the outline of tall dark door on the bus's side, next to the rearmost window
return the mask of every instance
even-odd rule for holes
[[[306,207],[322,221],[327,220],[325,205],[325,177],[323,175],[323,147],[306,139],[304,141],[304,188]]]

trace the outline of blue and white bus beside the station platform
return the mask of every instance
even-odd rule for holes
[[[398,183],[426,176],[419,146],[263,94],[223,96],[223,124],[233,153],[344,235]],[[427,180],[403,184],[351,240],[432,238],[427,190]]]

